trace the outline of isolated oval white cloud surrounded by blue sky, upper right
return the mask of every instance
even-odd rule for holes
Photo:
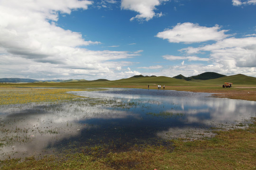
[[[222,40],[229,35],[225,34],[228,30],[220,30],[218,25],[213,27],[199,26],[193,23],[179,23],[173,29],[166,29],[159,32],[156,37],[168,39],[169,42],[206,42],[210,40]]]

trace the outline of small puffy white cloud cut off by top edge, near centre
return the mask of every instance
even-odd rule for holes
[[[130,21],[137,20],[150,20],[153,17],[161,17],[163,14],[155,13],[155,7],[159,6],[162,2],[168,0],[122,0],[121,8],[129,9],[138,12],[139,14],[135,17],[130,18]]]

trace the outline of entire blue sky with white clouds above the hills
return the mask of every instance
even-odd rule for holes
[[[0,0],[0,78],[256,77],[256,0]]]

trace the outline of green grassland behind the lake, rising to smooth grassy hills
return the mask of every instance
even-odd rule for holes
[[[222,88],[224,82],[232,82],[231,88]],[[245,75],[225,76],[210,80],[186,81],[166,76],[131,77],[114,81],[77,81],[67,83],[26,83],[0,84],[0,87],[50,87],[85,89],[96,87],[144,88],[157,89],[157,85],[165,85],[165,90],[214,93],[218,97],[256,101],[256,77]]]

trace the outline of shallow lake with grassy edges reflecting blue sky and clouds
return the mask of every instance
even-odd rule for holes
[[[100,145],[112,151],[134,144],[214,136],[243,128],[256,117],[256,102],[210,93],[147,89],[70,92],[70,102],[0,106],[0,159],[81,152]]]

